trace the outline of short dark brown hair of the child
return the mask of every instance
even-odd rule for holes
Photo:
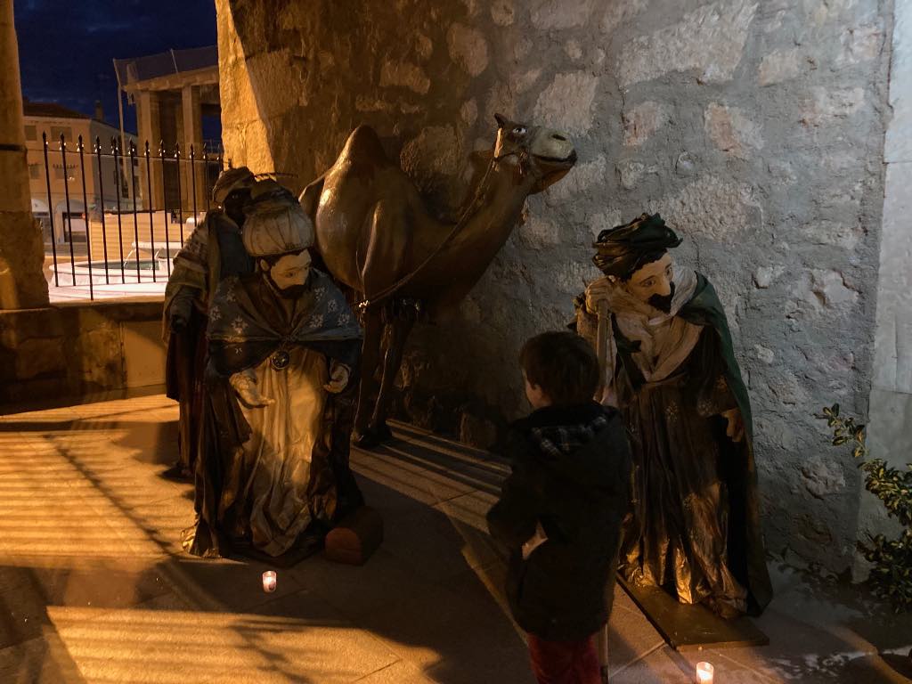
[[[523,345],[519,362],[529,384],[540,387],[554,406],[584,404],[598,388],[596,352],[571,332],[532,337]]]

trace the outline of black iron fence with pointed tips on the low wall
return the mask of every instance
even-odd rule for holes
[[[43,179],[39,162],[29,166],[48,285],[88,288],[94,299],[98,285],[167,281],[174,255],[212,208],[212,185],[225,166],[221,151],[191,145],[184,153],[164,143],[151,150],[148,141],[138,148],[136,140],[118,138],[102,145],[98,137],[89,149],[82,136],[64,134],[53,150],[47,133],[41,138]],[[47,207],[36,197],[42,180]]]

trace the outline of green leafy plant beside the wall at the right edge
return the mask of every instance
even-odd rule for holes
[[[869,536],[869,544],[858,543],[865,559],[874,564],[870,582],[878,596],[886,598],[896,612],[912,609],[912,463],[900,471],[883,459],[868,459],[865,426],[839,415],[839,404],[824,409],[823,416],[833,430],[833,445],[852,447],[852,455],[865,472],[865,489],[874,494],[891,518],[905,529],[896,539],[883,534]]]

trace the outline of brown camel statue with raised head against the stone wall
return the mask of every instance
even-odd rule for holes
[[[326,270],[358,293],[364,320],[355,443],[389,440],[390,390],[416,319],[432,317],[469,293],[513,232],[525,198],[565,176],[576,161],[569,136],[508,121],[498,130],[472,200],[455,224],[431,216],[375,130],[359,126],[336,163],[300,202],[314,221]],[[383,340],[387,339],[382,359]],[[379,391],[377,400],[370,401]]]

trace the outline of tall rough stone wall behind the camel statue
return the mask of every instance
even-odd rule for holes
[[[517,351],[596,276],[599,230],[661,212],[720,291],[757,415],[772,553],[842,570],[849,454],[812,414],[865,414],[892,3],[877,0],[216,0],[223,140],[295,190],[358,123],[436,211],[500,111],[575,137],[460,309],[411,339],[399,409],[464,440],[523,410]]]

